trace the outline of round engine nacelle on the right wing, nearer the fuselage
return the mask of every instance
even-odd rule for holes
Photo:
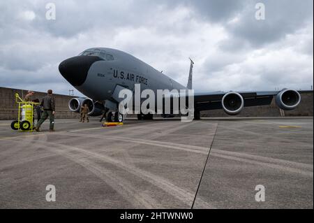
[[[244,108],[244,99],[241,94],[237,92],[229,92],[223,96],[221,101],[223,110],[228,115],[237,115]]]

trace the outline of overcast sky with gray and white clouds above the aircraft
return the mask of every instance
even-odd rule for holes
[[[50,2],[56,20],[46,19]],[[191,57],[202,92],[310,89],[313,0],[0,0],[0,87],[68,94],[59,63],[93,47],[128,52],[184,85]]]

